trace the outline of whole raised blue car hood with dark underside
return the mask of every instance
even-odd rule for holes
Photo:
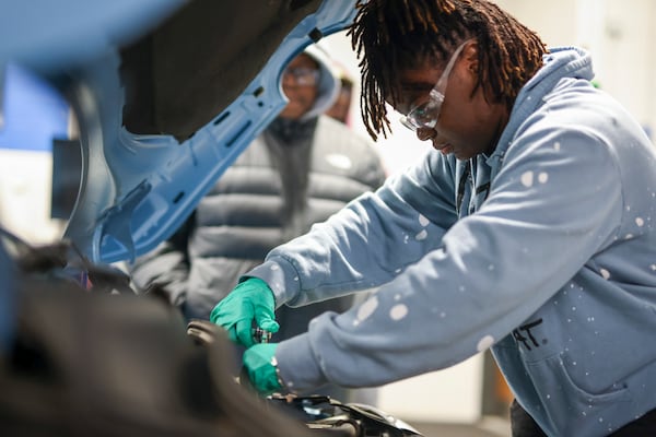
[[[283,109],[289,60],[355,13],[355,0],[67,0],[62,24],[34,2],[50,3],[2,19],[38,32],[0,43],[0,62],[37,72],[73,108],[82,176],[65,238],[102,263],[171,236]]]

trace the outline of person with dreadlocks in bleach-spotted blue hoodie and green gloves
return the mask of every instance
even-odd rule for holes
[[[588,54],[548,49],[483,0],[361,2],[350,35],[372,137],[389,104],[435,150],[273,249],[214,308],[250,346],[253,383],[377,386],[491,347],[514,435],[656,435],[656,154],[590,83]],[[276,330],[274,307],[375,286],[254,345],[251,319]]]

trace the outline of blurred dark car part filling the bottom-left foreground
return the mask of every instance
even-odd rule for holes
[[[234,382],[222,331],[198,347],[163,300],[95,290],[121,284],[119,272],[86,265],[96,283],[85,285],[63,267],[66,243],[37,248],[8,237],[20,310],[0,355],[3,436],[307,435]]]

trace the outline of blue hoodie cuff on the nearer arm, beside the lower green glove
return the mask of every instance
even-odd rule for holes
[[[280,379],[290,392],[302,392],[320,387],[328,382],[307,334],[296,335],[278,344],[276,361]]]

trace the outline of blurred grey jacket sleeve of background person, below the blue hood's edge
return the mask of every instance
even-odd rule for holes
[[[194,231],[196,213],[167,240],[145,253],[130,267],[132,286],[138,293],[156,287],[171,304],[180,307],[187,298],[189,280],[189,234]]]

